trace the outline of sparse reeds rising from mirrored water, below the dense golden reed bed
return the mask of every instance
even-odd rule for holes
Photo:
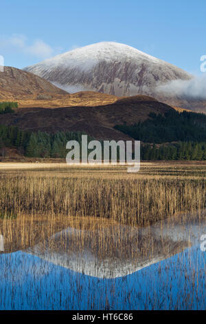
[[[184,229],[193,221],[201,225],[202,216],[176,215],[167,220],[166,227],[172,229],[178,225]],[[196,250],[181,255],[190,247],[189,242],[163,239],[161,235],[157,239],[150,226],[143,234],[144,227],[119,225],[111,219],[53,215],[48,220],[48,216],[23,214],[17,219],[3,219],[0,224],[6,249],[0,258],[5,269],[0,271],[0,309],[191,310],[205,307],[205,266],[196,260]],[[69,235],[64,231],[68,227],[73,229]],[[19,250],[26,253],[20,252],[19,257],[15,253],[5,254]],[[90,263],[82,261],[84,251],[95,257],[98,278],[88,267]],[[174,254],[177,254],[175,261],[170,261],[168,258]],[[47,259],[49,255],[51,259]],[[56,255],[60,259],[55,259]],[[62,266],[61,261],[67,258],[71,262]],[[161,260],[165,261],[159,263]],[[73,263],[76,267],[70,268]],[[153,267],[153,263],[157,265]],[[137,271],[138,267],[142,270]],[[122,270],[124,276],[113,278],[113,274],[121,275]],[[111,274],[111,279],[107,280],[102,272]]]

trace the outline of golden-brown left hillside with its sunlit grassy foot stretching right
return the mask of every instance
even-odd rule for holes
[[[19,107],[57,108],[73,105],[105,105],[117,97],[98,92],[69,94],[33,73],[5,67],[0,73],[0,101],[18,101]]]

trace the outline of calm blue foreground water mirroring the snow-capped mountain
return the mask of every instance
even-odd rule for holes
[[[102,257],[100,246],[91,244],[100,233],[87,230],[79,248],[81,230],[71,227],[54,235],[56,245],[40,242],[2,253],[0,309],[206,309],[206,252],[200,248],[205,223],[164,221],[138,230],[119,225],[118,230],[103,230],[113,248],[104,245]],[[146,246],[148,252],[142,252]]]

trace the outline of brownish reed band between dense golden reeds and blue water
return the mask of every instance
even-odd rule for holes
[[[197,217],[196,217],[197,219]],[[187,223],[192,218],[188,216]],[[184,226],[181,216],[170,222]],[[190,246],[187,241],[173,242],[168,237],[155,237],[148,227],[142,232],[141,227],[121,225],[111,219],[97,217],[31,216],[19,214],[16,219],[1,219],[0,234],[4,237],[3,253],[27,250],[38,243],[41,249],[66,254],[90,250],[98,259],[150,259],[156,256],[168,256]],[[67,229],[72,229],[67,232]],[[64,232],[66,230],[66,232]],[[59,234],[58,234],[59,233]]]

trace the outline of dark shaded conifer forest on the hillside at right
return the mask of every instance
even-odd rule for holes
[[[206,142],[206,115],[170,110],[165,114],[151,112],[149,119],[134,125],[116,125],[115,128],[139,141],[167,143],[173,141]]]

